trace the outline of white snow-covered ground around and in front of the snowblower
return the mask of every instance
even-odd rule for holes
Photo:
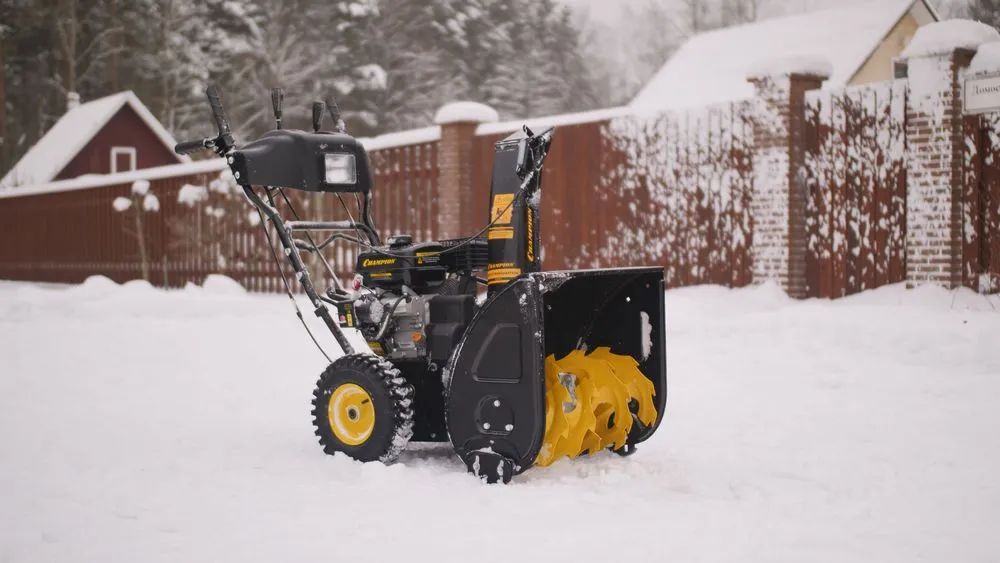
[[[213,285],[0,283],[0,561],[1000,560],[998,299],[669,292],[660,431],[490,487],[324,456],[287,299]]]

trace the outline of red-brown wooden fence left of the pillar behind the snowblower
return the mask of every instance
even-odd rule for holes
[[[379,186],[372,215],[383,236],[435,236],[437,142],[373,151],[371,161]],[[145,208],[145,196],[133,195],[136,181],[149,182],[155,209]],[[260,217],[232,182],[221,159],[25,190],[26,194],[0,196],[0,224],[4,225],[0,279],[80,283],[92,275],[117,282],[142,278],[137,236],[141,222],[146,275],[157,286],[183,287],[219,273],[252,291],[284,290],[282,270],[262,234]],[[286,195],[303,217],[339,220],[357,216],[353,196],[295,190],[287,190]],[[117,198],[126,198],[132,205],[118,211],[113,207]],[[276,204],[279,211],[291,215],[283,198],[278,197]],[[338,241],[327,251],[327,258],[347,278],[354,271],[357,251]],[[284,257],[278,258],[284,267]],[[316,272],[320,272],[318,266],[313,264]],[[289,283],[298,290],[294,280]]]

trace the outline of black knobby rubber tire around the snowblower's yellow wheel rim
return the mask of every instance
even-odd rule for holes
[[[333,390],[345,383],[362,387],[375,406],[375,428],[363,444],[341,442],[330,428],[327,407]],[[358,461],[391,464],[413,436],[413,387],[389,361],[371,354],[338,358],[320,376],[313,391],[313,426],[329,455],[346,454]]]

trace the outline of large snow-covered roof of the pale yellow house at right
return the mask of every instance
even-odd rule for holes
[[[911,10],[938,19],[925,0],[870,0],[846,7],[719,29],[689,39],[630,106],[673,109],[753,96],[747,74],[763,61],[821,57],[827,87],[846,85]]]

